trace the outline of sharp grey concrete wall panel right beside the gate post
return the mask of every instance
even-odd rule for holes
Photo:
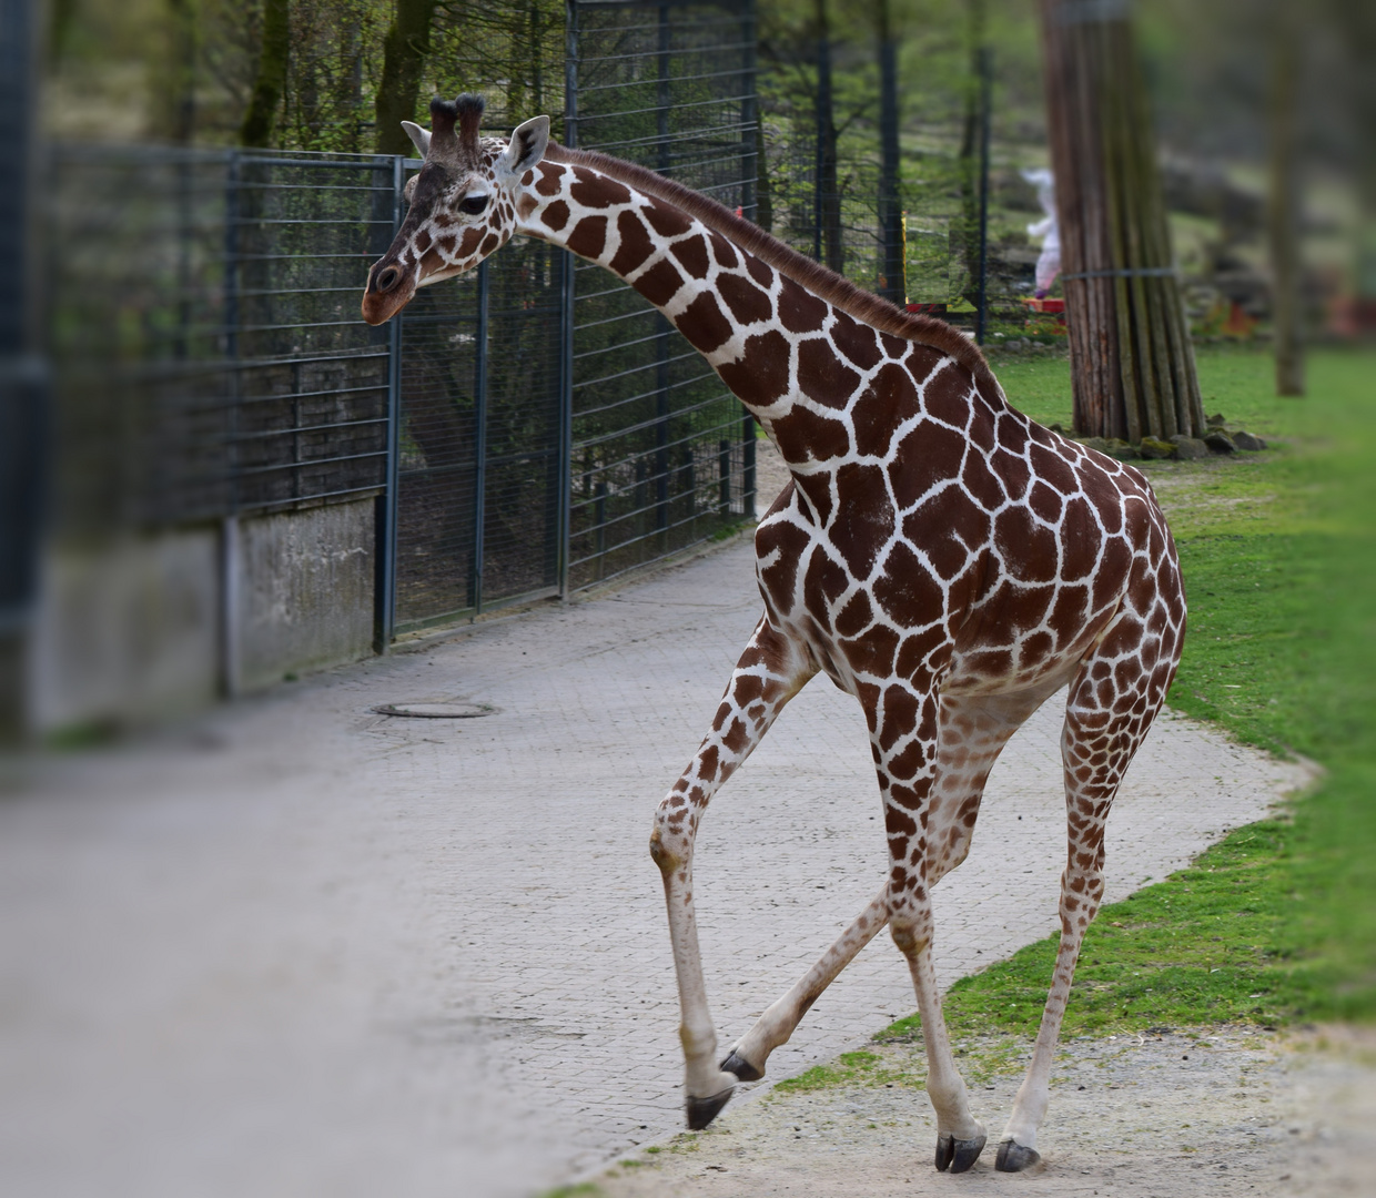
[[[374,503],[239,523],[239,686],[373,652]]]

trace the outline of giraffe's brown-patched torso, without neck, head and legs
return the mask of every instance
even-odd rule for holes
[[[866,432],[878,403],[910,415]],[[758,576],[771,618],[852,693],[918,675],[952,693],[1054,689],[1126,600],[1148,598],[1128,594],[1154,572],[1134,558],[1170,553],[1137,470],[922,347],[827,420],[841,453],[798,470],[761,521]]]

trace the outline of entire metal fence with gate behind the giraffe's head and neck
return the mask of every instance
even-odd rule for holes
[[[568,140],[753,213],[753,6],[568,6]],[[754,510],[754,428],[629,287],[516,242],[367,327],[418,162],[51,153],[59,538],[378,497],[380,633],[567,594]]]

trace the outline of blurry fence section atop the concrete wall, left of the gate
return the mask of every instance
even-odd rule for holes
[[[389,160],[58,147],[54,527],[358,498],[384,481],[388,338],[356,318]]]

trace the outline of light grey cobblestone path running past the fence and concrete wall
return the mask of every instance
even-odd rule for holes
[[[758,612],[732,545],[590,602],[286,685],[135,745],[22,763],[0,802],[0,1191],[506,1195],[680,1122],[655,802]],[[480,719],[394,719],[468,699]],[[940,977],[1055,926],[1053,700],[941,883]],[[863,717],[817,679],[699,839],[722,1044],[872,897]],[[1302,772],[1165,715],[1109,823],[1108,898]],[[771,1060],[912,1008],[879,938]]]

